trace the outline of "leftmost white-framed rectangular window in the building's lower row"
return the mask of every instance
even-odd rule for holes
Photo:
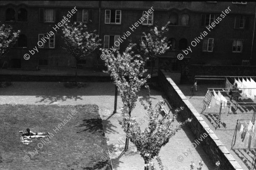
[[[40,43],[41,41],[42,43]],[[48,34],[39,34],[38,35],[38,48],[44,49],[54,49],[55,48],[55,35],[51,37]]]

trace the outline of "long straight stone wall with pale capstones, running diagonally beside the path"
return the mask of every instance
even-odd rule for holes
[[[223,170],[242,170],[239,163],[233,158],[227,148],[218,139],[209,126],[201,117],[201,115],[192,106],[189,100],[183,95],[178,86],[172,81],[169,75],[164,70],[158,72],[158,82],[166,95],[170,99],[170,104],[174,106],[184,107],[181,115],[183,118],[192,118],[189,126],[196,138],[200,138],[201,134],[206,133],[208,136],[201,142],[204,151],[213,159],[213,161],[220,161]],[[172,100],[175,99],[175,100]],[[209,132],[208,132],[208,131]]]

